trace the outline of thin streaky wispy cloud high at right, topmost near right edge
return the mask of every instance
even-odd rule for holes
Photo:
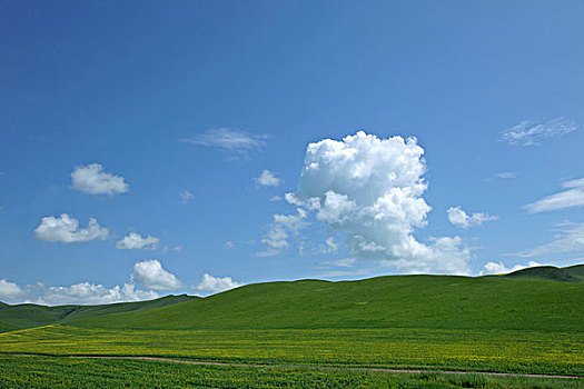
[[[578,123],[568,118],[556,118],[547,121],[523,121],[504,130],[501,141],[513,146],[536,146],[542,141],[556,138],[577,130]]]

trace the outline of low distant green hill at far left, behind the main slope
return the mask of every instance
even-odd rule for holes
[[[0,303],[0,332],[33,328],[72,320],[82,320],[102,315],[141,311],[190,301],[196,297],[166,296],[149,301],[119,302],[101,306],[46,307],[33,303],[10,306]]]

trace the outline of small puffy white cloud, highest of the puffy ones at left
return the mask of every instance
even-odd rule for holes
[[[71,188],[91,194],[125,193],[130,186],[123,177],[113,176],[103,171],[99,163],[77,167],[71,173]]]

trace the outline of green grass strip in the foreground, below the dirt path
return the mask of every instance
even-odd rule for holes
[[[0,388],[582,388],[572,379],[0,357]]]

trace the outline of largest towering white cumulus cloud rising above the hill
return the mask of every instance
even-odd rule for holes
[[[471,253],[459,238],[425,245],[413,235],[430,211],[423,197],[423,154],[415,138],[382,139],[363,131],[310,143],[298,191],[286,200],[345,235],[346,247],[360,260],[407,272],[468,273]],[[276,232],[277,239],[264,241],[273,251],[286,247],[287,237]]]

